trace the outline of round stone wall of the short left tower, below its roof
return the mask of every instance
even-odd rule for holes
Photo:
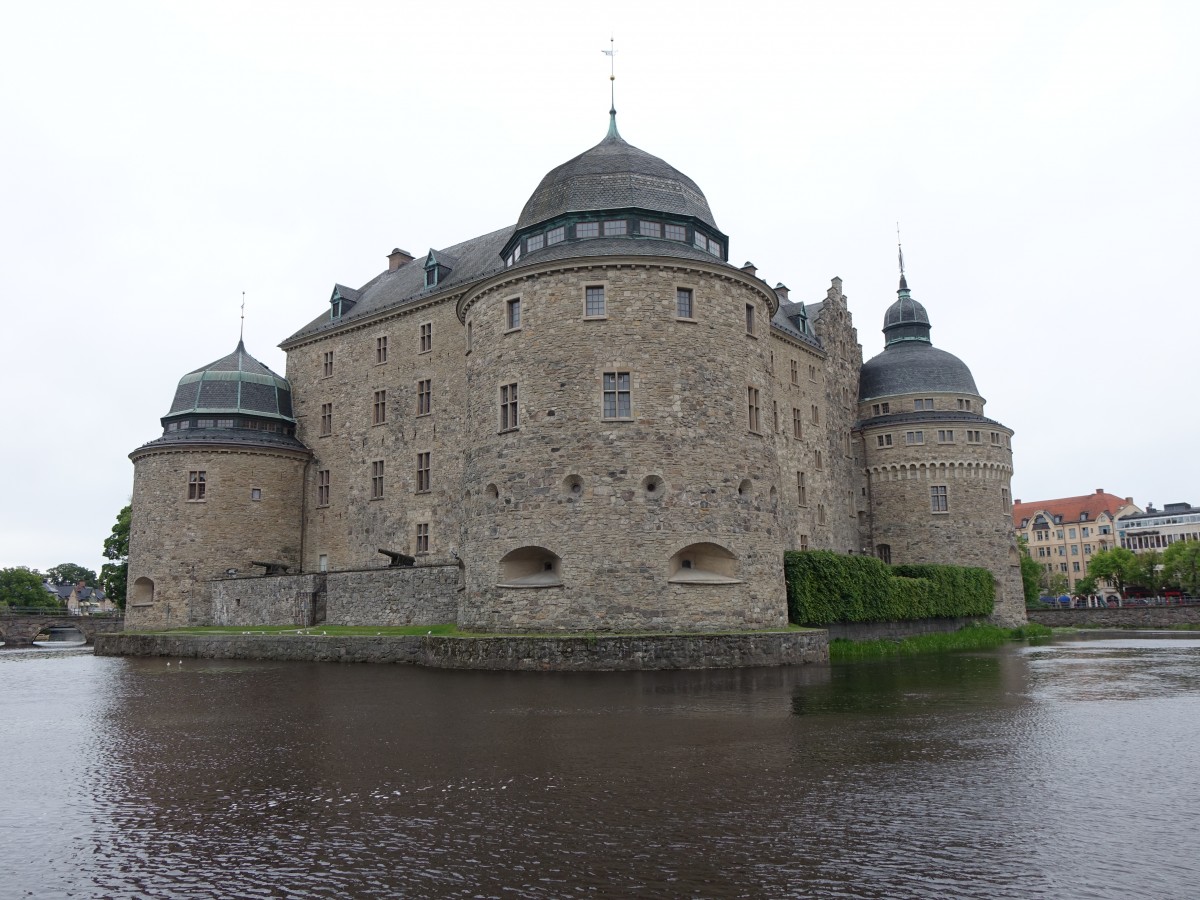
[[[256,559],[299,565],[305,461],[245,446],[134,454],[128,626],[206,624],[210,580]],[[190,472],[205,473],[203,500],[188,499]]]

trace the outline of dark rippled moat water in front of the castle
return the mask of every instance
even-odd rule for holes
[[[5,898],[1200,896],[1200,641],[532,674],[0,650]]]

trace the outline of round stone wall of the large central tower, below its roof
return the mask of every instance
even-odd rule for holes
[[[586,314],[589,287],[605,292],[602,316]],[[686,319],[677,316],[680,288],[692,292]],[[715,265],[605,258],[518,270],[460,304],[472,334],[460,624],[785,623],[784,534],[772,498],[772,301],[761,282]],[[510,326],[514,302],[518,328]],[[604,413],[607,372],[629,376],[628,416]],[[511,384],[520,425],[504,428],[500,391]],[[750,389],[758,391],[756,431]],[[697,545],[704,550],[690,553]],[[726,562],[710,571],[708,551]],[[540,554],[554,583],[514,584],[523,570],[511,560],[522,553]],[[701,577],[672,582],[682,558]]]

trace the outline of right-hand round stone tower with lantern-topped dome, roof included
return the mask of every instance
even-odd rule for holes
[[[870,545],[889,563],[976,565],[995,576],[994,619],[1025,622],[1012,527],[1010,428],[984,416],[971,370],[930,341],[901,274],[883,317],[883,353],[858,391]]]

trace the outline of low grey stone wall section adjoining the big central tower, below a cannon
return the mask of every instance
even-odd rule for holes
[[[330,625],[442,625],[455,622],[462,593],[457,565],[329,572]]]

